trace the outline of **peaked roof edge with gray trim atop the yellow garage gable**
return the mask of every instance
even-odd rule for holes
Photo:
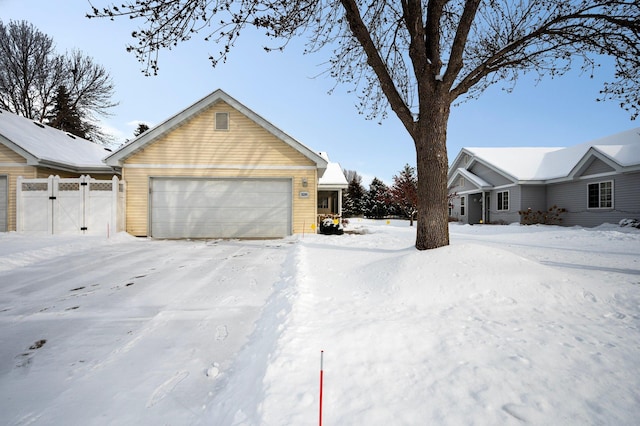
[[[319,176],[321,176],[324,173],[324,170],[327,167],[327,161],[324,158],[322,158],[322,156],[317,154],[315,151],[309,149],[307,146],[305,146],[301,142],[298,142],[291,136],[287,135],[285,132],[278,129],[269,121],[265,120],[260,115],[256,114],[251,109],[247,108],[245,105],[241,104],[236,99],[232,98],[231,96],[229,96],[228,94],[226,94],[224,91],[220,89],[200,99],[193,105],[185,108],[184,110],[180,111],[173,117],[170,117],[169,119],[157,125],[156,127],[150,130],[147,130],[146,132],[144,132],[142,135],[138,136],[136,139],[132,140],[131,142],[123,145],[122,147],[120,147],[118,150],[116,150],[113,154],[109,155],[105,159],[106,163],[111,166],[121,167],[123,161],[126,160],[128,157],[140,151],[145,146],[155,142],[158,138],[164,136],[165,134],[169,133],[173,129],[182,125],[184,122],[195,117],[199,113],[203,112],[204,110],[208,109],[209,107],[211,107],[212,105],[218,102],[225,102],[229,104],[230,106],[232,106],[233,108],[235,108],[236,110],[244,114],[246,117],[251,119],[253,122],[261,126],[263,129],[265,129],[266,131],[268,131],[269,133],[271,133],[272,135],[274,135],[275,137],[277,137],[278,139],[280,139],[281,141],[288,144],[290,147],[292,147],[293,149],[295,149],[296,151],[300,152],[302,155],[310,159],[318,167]]]

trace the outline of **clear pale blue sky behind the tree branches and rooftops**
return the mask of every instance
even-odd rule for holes
[[[97,7],[112,3],[94,0]],[[154,126],[222,89],[292,137],[316,151],[327,151],[332,161],[356,170],[368,187],[376,176],[387,183],[404,164],[415,165],[415,148],[399,120],[378,124],[356,109],[352,87],[335,86],[330,77],[316,77],[329,51],[302,55],[303,40],[284,53],[265,53],[263,37],[241,37],[226,64],[212,68],[209,54],[218,46],[201,37],[163,51],[160,71],[145,77],[125,46],[137,21],[89,20],[87,0],[0,0],[0,19],[26,20],[51,36],[62,53],[74,48],[107,69],[115,84],[119,105],[103,125],[120,142],[133,138],[138,122]],[[603,70],[607,71],[607,70]],[[452,162],[464,146],[569,146],[639,127],[616,102],[596,102],[602,81],[572,72],[537,85],[521,78],[513,93],[498,86],[479,99],[455,107],[448,128],[448,154]]]

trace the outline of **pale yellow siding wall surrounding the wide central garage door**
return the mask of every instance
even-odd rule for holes
[[[229,113],[229,130],[214,130],[216,112]],[[126,160],[122,177],[127,182],[127,232],[148,234],[150,177],[187,176],[292,179],[293,233],[313,232],[317,208],[315,163],[224,102]],[[308,192],[309,197],[301,198],[300,192]]]

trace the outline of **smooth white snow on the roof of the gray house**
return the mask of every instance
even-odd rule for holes
[[[619,165],[640,165],[640,128],[568,148],[465,148],[516,180],[549,180],[566,177],[590,149]]]

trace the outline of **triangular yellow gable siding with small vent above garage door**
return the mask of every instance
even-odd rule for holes
[[[214,130],[216,112],[229,130]],[[312,165],[300,152],[220,102],[127,159],[128,164]]]

